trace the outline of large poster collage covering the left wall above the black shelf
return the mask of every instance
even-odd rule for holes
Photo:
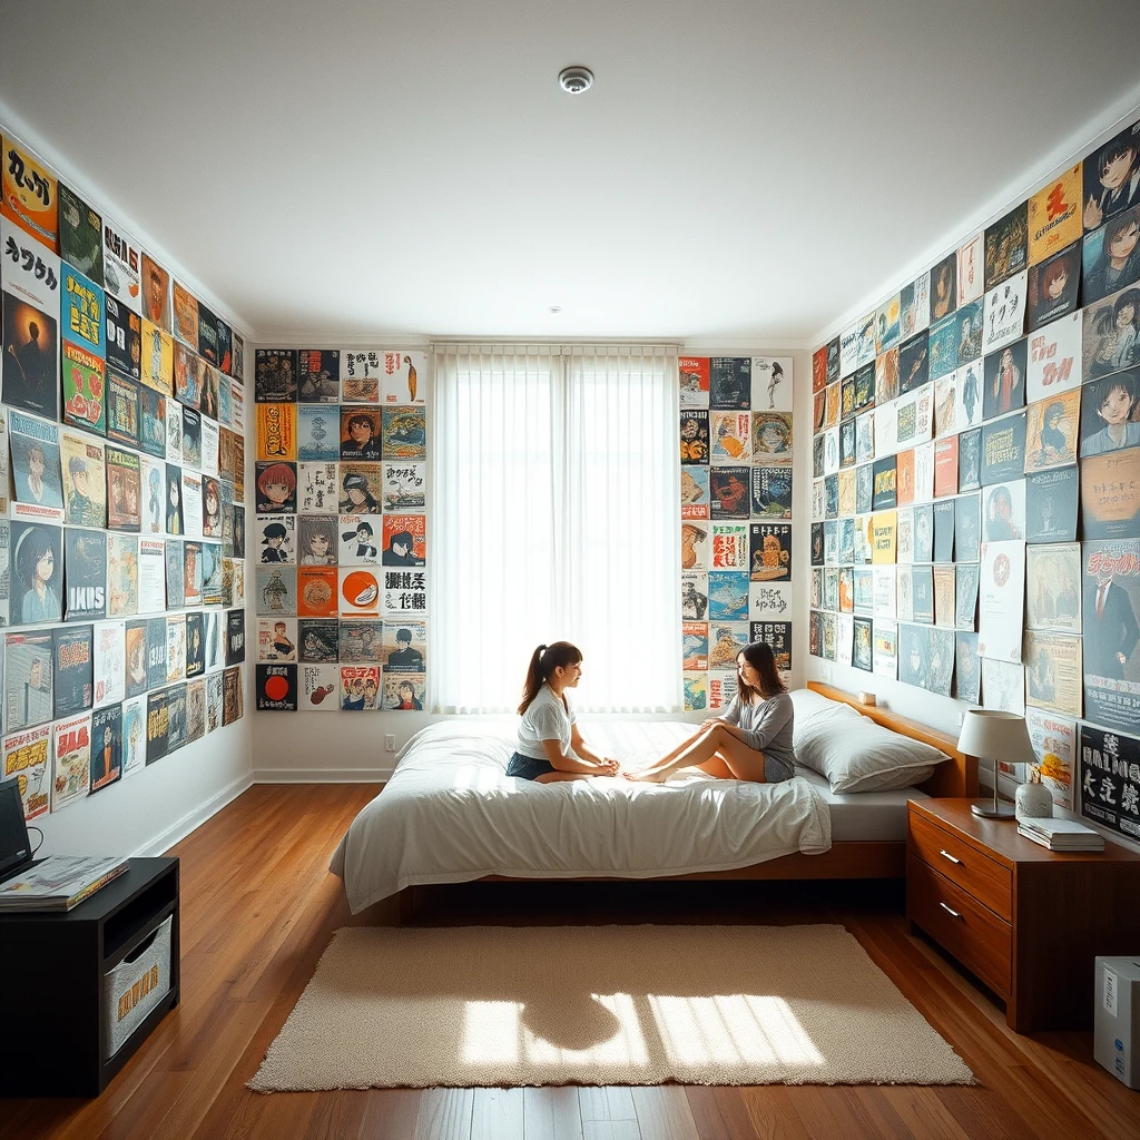
[[[0,739],[31,820],[242,716],[244,344],[0,157]]]

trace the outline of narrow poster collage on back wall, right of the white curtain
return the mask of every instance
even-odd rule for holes
[[[749,642],[791,669],[792,360],[678,364],[685,709],[718,709]]]

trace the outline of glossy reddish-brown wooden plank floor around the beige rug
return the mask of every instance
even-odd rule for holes
[[[358,921],[326,869],[337,839],[375,790],[255,787],[179,844],[172,854],[181,858],[182,876],[181,1004],[98,1100],[5,1101],[0,1137],[1140,1137],[1140,1094],[1094,1064],[1091,1035],[1010,1033],[1001,1010],[971,982],[929,944],[907,936],[897,889],[858,885],[488,883],[427,891],[415,920],[842,922],[964,1058],[979,1086],[250,1092],[245,1082],[331,933]]]

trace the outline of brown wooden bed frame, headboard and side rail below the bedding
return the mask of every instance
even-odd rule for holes
[[[978,793],[978,760],[958,750],[958,741],[953,736],[930,728],[917,720],[910,720],[874,705],[861,705],[858,698],[845,693],[831,685],[809,681],[807,687],[826,697],[828,700],[842,701],[850,705],[876,724],[897,732],[901,736],[910,736],[930,744],[945,752],[950,759],[939,764],[929,780],[918,784],[920,791],[928,796],[944,798],[974,797]],[[694,874],[661,876],[652,882],[682,882],[689,879],[902,879],[906,868],[906,841],[903,839],[871,839],[865,841],[845,841],[832,844],[822,855],[805,855],[793,852],[780,858],[768,860],[752,866],[742,866],[733,871],[700,871]],[[539,879],[518,879],[500,874],[489,874],[479,882],[539,882]],[[620,877],[598,876],[588,879],[567,879],[567,882],[603,882],[634,881]],[[413,907],[413,887],[406,887],[399,894],[401,918],[408,918]]]

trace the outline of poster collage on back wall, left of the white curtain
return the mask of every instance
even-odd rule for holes
[[[254,352],[256,705],[422,709],[424,352]]]

